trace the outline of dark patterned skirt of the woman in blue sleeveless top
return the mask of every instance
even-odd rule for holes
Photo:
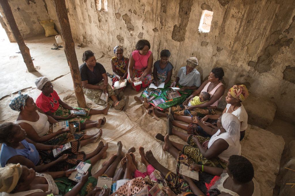
[[[66,171],[71,169],[72,167],[76,167],[81,161],[85,161],[86,155],[85,152],[78,152],[80,149],[80,141],[70,142],[71,148],[63,151],[58,157],[63,154],[68,154],[68,159],[59,162],[49,168],[48,171],[56,172],[56,171]],[[53,156],[52,150],[38,150],[40,156],[40,165],[48,164],[58,157]]]

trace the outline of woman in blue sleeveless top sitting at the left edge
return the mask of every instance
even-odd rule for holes
[[[90,154],[78,152],[80,147],[96,142],[100,137],[100,134],[87,135],[85,136],[87,138],[82,141],[71,142],[71,149],[65,150],[55,158],[52,150],[59,148],[60,145],[36,143],[26,136],[26,131],[18,124],[12,122],[0,124],[0,142],[3,143],[0,154],[1,167],[8,163],[20,163],[38,172],[68,170],[80,161],[85,161],[91,157],[96,160],[97,154],[103,147],[103,142],[100,142],[96,150]]]

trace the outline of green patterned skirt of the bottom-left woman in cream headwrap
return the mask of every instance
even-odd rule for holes
[[[90,160],[85,161],[86,163],[91,164]],[[75,167],[73,167],[75,168]],[[92,166],[89,167],[88,172],[91,175]],[[77,183],[73,180],[68,179],[67,177],[61,177],[54,179],[55,184],[58,187],[59,194],[64,195],[65,193],[69,192]],[[83,185],[81,190],[79,191],[79,196],[87,195],[90,191],[92,191],[97,184],[97,179],[95,177],[88,177],[87,182]]]

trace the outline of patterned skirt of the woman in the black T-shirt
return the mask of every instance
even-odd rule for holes
[[[101,80],[99,83],[94,84],[96,86],[101,86],[104,84],[104,81]],[[111,107],[112,104],[114,103],[113,100],[110,98],[112,95],[115,95],[114,90],[112,89],[111,85],[107,85],[106,89],[109,92],[109,99],[108,99],[108,104]],[[93,101],[96,104],[99,105],[106,105],[106,102],[102,99],[100,99],[101,94],[103,93],[102,90],[99,89],[86,89],[83,88],[83,92],[86,95],[86,97],[88,97],[91,101]]]

